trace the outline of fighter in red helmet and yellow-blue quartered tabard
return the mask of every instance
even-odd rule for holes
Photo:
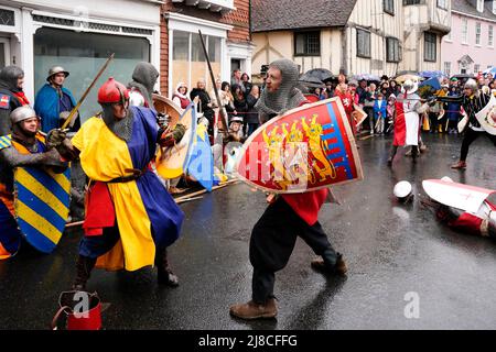
[[[65,158],[79,156],[91,180],[73,288],[85,289],[94,266],[132,272],[153,264],[159,284],[176,286],[165,249],[177,240],[184,215],[149,164],[158,143],[170,146],[182,135],[164,134],[154,110],[130,107],[127,88],[114,78],[98,90],[98,102],[101,116],[71,141],[61,130],[47,138]]]

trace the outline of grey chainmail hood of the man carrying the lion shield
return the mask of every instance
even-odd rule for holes
[[[288,110],[298,108],[305,97],[296,88],[300,76],[296,64],[287,58],[274,61],[270,67],[278,68],[282,74],[281,86],[277,91],[270,92],[267,89],[260,95],[255,108],[260,113],[260,120],[266,122],[274,116],[284,113]]]

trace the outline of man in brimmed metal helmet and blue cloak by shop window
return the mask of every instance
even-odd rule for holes
[[[65,77],[68,77],[69,75],[69,73],[64,70],[61,66],[52,67],[48,72],[48,77],[46,77],[48,82],[37,91],[36,99],[34,100],[34,110],[41,118],[41,129],[43,132],[58,129],[64,122],[61,121],[61,118],[66,118],[76,106],[73,94],[62,85],[57,85],[53,79],[57,74],[64,74]],[[74,119],[71,130],[76,132],[79,128],[80,120],[79,117],[77,117]]]

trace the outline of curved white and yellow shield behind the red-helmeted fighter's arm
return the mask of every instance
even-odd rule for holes
[[[179,119],[179,122],[186,128],[186,132],[180,143],[168,148],[160,148],[157,154],[157,172],[165,179],[180,177],[186,167],[186,158],[193,144],[193,136],[196,135],[196,110],[191,103]]]

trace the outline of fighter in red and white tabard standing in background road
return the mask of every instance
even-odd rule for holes
[[[401,92],[395,103],[395,138],[391,152],[388,158],[388,165],[392,164],[398,146],[412,146],[411,157],[416,162],[418,156],[420,117],[428,109],[428,105],[420,102],[420,97],[416,94],[417,85],[411,80],[403,84]]]

